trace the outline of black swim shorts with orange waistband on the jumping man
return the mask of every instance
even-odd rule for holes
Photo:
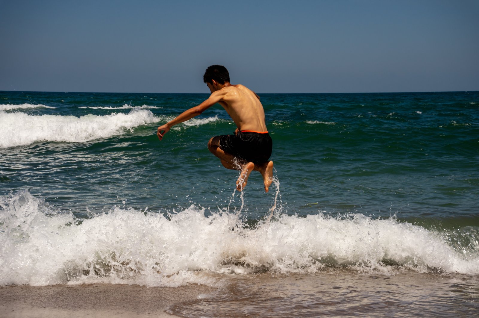
[[[267,162],[273,150],[273,140],[265,133],[239,131],[237,135],[219,136],[219,148],[246,162]]]

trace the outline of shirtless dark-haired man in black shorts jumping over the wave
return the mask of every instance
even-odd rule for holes
[[[246,186],[251,171],[256,170],[261,173],[264,190],[268,192],[273,181],[273,161],[268,161],[273,141],[266,129],[260,97],[243,85],[230,84],[228,70],[221,65],[206,68],[203,81],[211,91],[210,97],[158,127],[158,138],[163,139],[173,125],[187,121],[219,103],[237,128],[234,135],[212,137],[208,141],[209,151],[221,160],[225,168],[241,171],[236,182],[239,191]]]

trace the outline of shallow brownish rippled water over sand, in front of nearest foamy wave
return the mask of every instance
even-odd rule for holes
[[[231,275],[209,297],[172,305],[180,317],[478,317],[479,276],[333,269]]]

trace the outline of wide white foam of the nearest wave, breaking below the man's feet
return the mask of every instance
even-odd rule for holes
[[[28,191],[0,197],[0,285],[211,285],[211,273],[315,273],[328,266],[479,273],[477,238],[470,239],[475,247],[457,250],[437,233],[394,219],[283,215],[244,229],[235,215],[208,217],[194,205],[171,220],[143,212],[115,207],[79,224]]]

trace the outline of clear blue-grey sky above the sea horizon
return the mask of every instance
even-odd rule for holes
[[[0,0],[0,90],[479,90],[479,1]]]

